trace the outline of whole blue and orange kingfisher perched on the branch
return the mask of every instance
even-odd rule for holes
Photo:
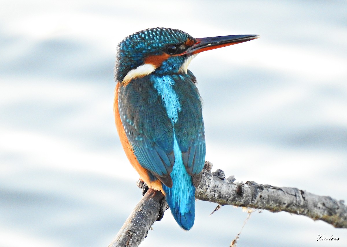
[[[256,38],[193,38],[178,29],[149,28],[118,44],[113,106],[121,145],[184,230],[194,225],[206,153],[201,96],[188,65],[198,53]]]

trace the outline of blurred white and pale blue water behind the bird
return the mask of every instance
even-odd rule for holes
[[[346,1],[5,1],[0,9],[0,246],[108,246],[141,199],[112,105],[117,44],[150,27],[260,34],[201,53],[206,160],[237,181],[347,200]],[[247,213],[197,201],[145,246],[229,246]],[[316,241],[319,234],[339,241]],[[252,214],[238,246],[347,246],[346,229]]]

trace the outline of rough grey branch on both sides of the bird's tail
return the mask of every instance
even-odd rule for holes
[[[268,184],[235,182],[234,176],[226,178],[222,170],[211,173],[212,163],[206,162],[202,180],[195,192],[196,199],[234,205],[239,207],[265,209],[271,212],[285,211],[322,220],[336,228],[347,228],[347,207],[344,201],[330,196],[319,196],[289,187]],[[136,205],[116,238],[109,247],[135,247],[147,236],[148,230],[167,209],[164,196],[149,189]],[[159,220],[160,220],[159,219]]]

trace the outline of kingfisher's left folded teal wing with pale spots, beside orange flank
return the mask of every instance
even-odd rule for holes
[[[173,126],[148,76],[121,87],[118,107],[122,125],[139,164],[172,187],[175,163]]]

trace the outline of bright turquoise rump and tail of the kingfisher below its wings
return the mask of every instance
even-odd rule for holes
[[[192,176],[183,165],[181,150],[174,140],[175,165],[171,172],[172,188],[163,185],[165,198],[169,204],[172,215],[178,225],[189,230],[194,225],[195,218],[195,187]]]

